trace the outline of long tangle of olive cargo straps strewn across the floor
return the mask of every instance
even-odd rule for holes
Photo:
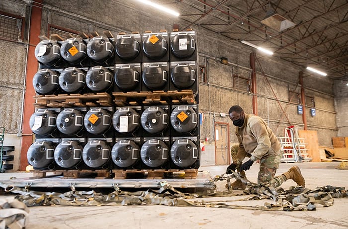
[[[252,209],[264,211],[312,211],[316,209],[315,204],[331,206],[334,198],[347,198],[348,190],[343,187],[324,186],[314,190],[302,187],[292,187],[289,190],[267,187],[254,184],[241,178],[238,173],[233,172],[230,176],[216,176],[210,182],[219,182],[231,178],[243,179],[247,188],[243,192],[235,193],[232,189],[218,191],[204,190],[199,193],[183,193],[173,188],[167,181],[159,182],[159,190],[148,189],[147,191],[127,192],[122,191],[117,183],[113,185],[114,191],[109,194],[97,193],[95,191],[76,191],[71,184],[71,191],[66,193],[29,191],[26,188],[7,186],[0,182],[0,187],[7,192],[18,194],[15,198],[25,203],[26,206],[38,205],[67,205],[67,206],[124,206],[124,205],[166,205],[166,206],[195,206],[231,209]],[[245,198],[237,200],[213,200],[207,201],[207,197],[232,197],[246,195]],[[204,198],[204,199],[196,199]],[[265,203],[264,206],[231,205],[227,202],[272,199],[273,203]],[[220,200],[221,201],[221,200]]]

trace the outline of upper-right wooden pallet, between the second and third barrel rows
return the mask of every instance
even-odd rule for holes
[[[113,92],[117,106],[152,104],[196,104],[192,90],[153,92]]]

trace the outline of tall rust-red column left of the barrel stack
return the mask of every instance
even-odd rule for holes
[[[41,29],[42,0],[34,0],[31,6],[30,24],[29,24],[29,40],[28,43],[28,59],[26,69],[25,95],[24,95],[24,111],[23,111],[23,132],[22,143],[20,149],[20,170],[25,170],[28,165],[26,153],[32,143],[32,131],[29,126],[30,116],[34,113],[35,90],[32,81],[38,70],[37,59],[35,58],[35,46],[40,42],[39,35]]]

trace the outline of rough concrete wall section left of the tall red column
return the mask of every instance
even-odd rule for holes
[[[10,0],[0,1],[0,11],[24,18],[29,12],[24,2]],[[23,42],[0,39],[0,113],[2,116],[0,126],[5,128],[4,146],[15,148],[14,152],[9,153],[14,155],[14,161],[8,162],[13,164],[13,170],[9,171],[19,169],[21,137],[18,137],[17,133],[20,132],[21,127],[23,88],[25,87],[26,33],[23,34],[23,38]]]

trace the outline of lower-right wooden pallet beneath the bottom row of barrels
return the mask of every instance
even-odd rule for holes
[[[147,178],[147,179],[163,179],[163,178],[181,178],[195,179],[197,178],[197,169],[187,170],[112,170],[115,175],[114,179],[131,179],[131,178]]]

